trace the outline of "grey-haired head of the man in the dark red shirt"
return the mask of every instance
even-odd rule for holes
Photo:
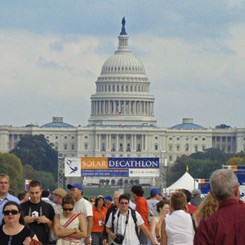
[[[210,177],[212,195],[219,202],[228,198],[239,199],[239,183],[236,175],[230,169],[218,169]]]

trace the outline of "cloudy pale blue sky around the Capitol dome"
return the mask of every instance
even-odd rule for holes
[[[145,65],[158,126],[245,127],[245,0],[2,0],[0,125],[86,125],[117,49]]]

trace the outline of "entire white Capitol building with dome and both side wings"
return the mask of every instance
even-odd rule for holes
[[[206,128],[192,118],[170,128],[157,126],[150,81],[143,63],[129,50],[128,38],[124,22],[118,48],[96,81],[86,126],[74,127],[62,117],[42,126],[0,125],[0,152],[12,150],[23,135],[39,134],[64,157],[159,157],[171,164],[183,154],[207,148],[245,151],[245,128]]]

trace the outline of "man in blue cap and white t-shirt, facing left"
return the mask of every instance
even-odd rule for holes
[[[69,184],[67,188],[71,191],[71,196],[76,201],[74,211],[76,213],[83,213],[87,221],[87,236],[85,239],[81,239],[81,244],[91,244],[91,231],[93,227],[92,204],[83,198],[83,186],[80,183]]]

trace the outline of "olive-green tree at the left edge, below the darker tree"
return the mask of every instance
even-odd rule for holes
[[[14,154],[0,153],[0,172],[10,178],[10,189],[14,194],[24,190],[23,165]]]

